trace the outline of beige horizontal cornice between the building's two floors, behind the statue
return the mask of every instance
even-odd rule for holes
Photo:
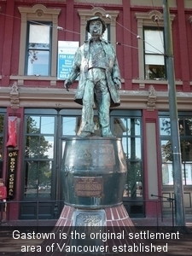
[[[11,108],[81,108],[73,101],[77,90],[57,88],[12,87],[0,88],[2,106]],[[167,91],[119,90],[121,104],[119,109],[169,110]],[[189,107],[191,106],[191,107]],[[177,92],[177,109],[192,108],[192,92]]]

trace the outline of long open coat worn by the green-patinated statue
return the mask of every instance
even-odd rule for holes
[[[106,78],[108,84],[108,90],[111,96],[111,107],[117,107],[120,105],[119,92],[113,83],[113,79],[119,79],[120,81],[120,73],[119,73],[119,65],[117,61],[117,57],[113,46],[108,44],[107,41],[102,39],[102,47],[106,54]],[[90,40],[86,41],[84,45],[80,46],[77,49],[74,60],[73,67],[71,72],[69,73],[67,79],[70,79],[71,82],[79,76],[79,85],[78,90],[75,94],[74,101],[83,105],[83,97],[84,97],[84,86],[86,84],[86,78],[88,73],[88,62],[90,55]]]

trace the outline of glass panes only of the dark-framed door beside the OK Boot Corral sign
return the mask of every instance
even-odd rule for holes
[[[55,116],[26,114],[25,198],[51,197],[55,160]]]

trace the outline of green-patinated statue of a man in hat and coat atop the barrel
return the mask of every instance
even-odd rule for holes
[[[87,20],[86,31],[91,38],[77,49],[73,67],[64,87],[68,88],[79,76],[75,102],[83,105],[79,137],[94,134],[94,102],[98,110],[102,137],[113,137],[109,124],[109,108],[120,104],[121,88],[119,65],[113,46],[102,39],[106,24],[100,17]]]

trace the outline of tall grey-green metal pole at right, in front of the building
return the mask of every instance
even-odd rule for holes
[[[175,87],[175,73],[173,67],[172,51],[172,30],[169,14],[168,0],[163,0],[165,43],[166,43],[166,73],[168,80],[169,109],[171,120],[172,136],[172,168],[174,181],[174,200],[175,200],[175,224],[185,227],[185,212],[183,206],[183,180],[182,180],[182,161],[178,130],[177,99]]]

